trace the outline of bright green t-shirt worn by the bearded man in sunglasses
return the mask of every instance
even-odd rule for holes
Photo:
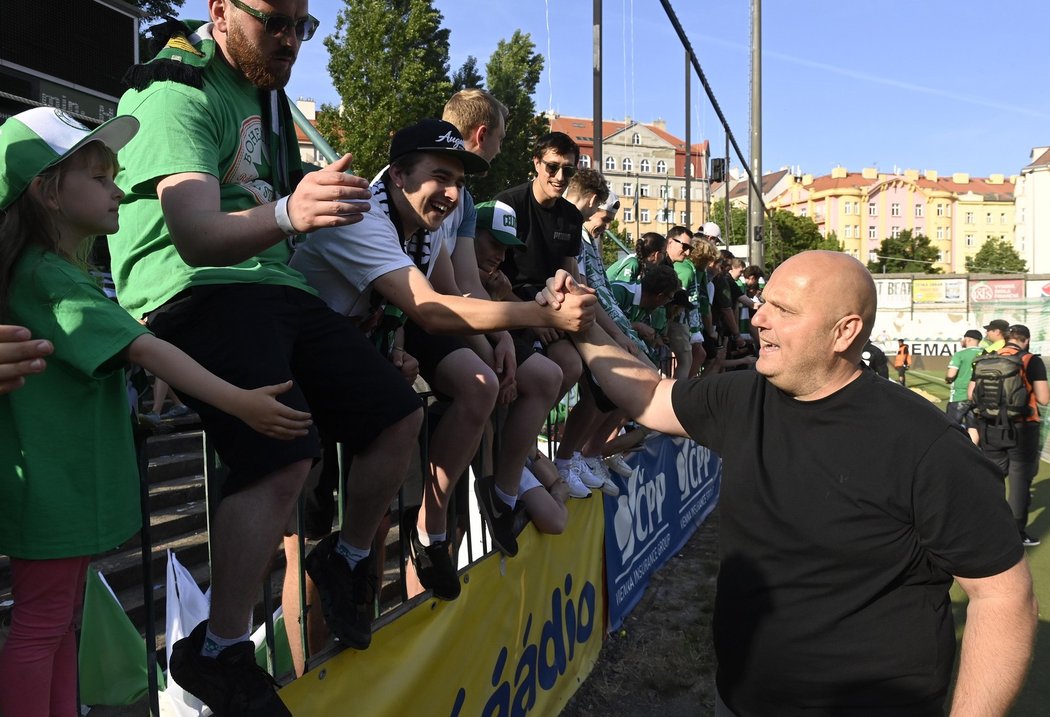
[[[291,250],[279,241],[232,267],[190,267],[171,244],[156,183],[183,172],[211,174],[219,183],[224,212],[273,202],[270,160],[264,143],[259,91],[216,58],[204,71],[204,88],[154,82],[128,90],[118,114],[133,114],[139,133],[120,152],[117,184],[127,196],[121,230],[109,240],[121,304],[144,316],[191,286],[269,283],[304,291],[302,275],[288,267]],[[294,140],[293,140],[294,141]]]

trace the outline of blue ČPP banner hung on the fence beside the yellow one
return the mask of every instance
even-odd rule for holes
[[[721,459],[685,438],[650,436],[615,473],[617,498],[605,497],[609,630],[634,609],[649,577],[686,544],[718,503]]]

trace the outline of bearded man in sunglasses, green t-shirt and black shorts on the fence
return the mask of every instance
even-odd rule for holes
[[[419,398],[364,334],[289,267],[295,239],[356,224],[368,182],[346,154],[303,176],[284,87],[317,28],[307,0],[209,0],[209,22],[153,28],[167,44],[129,70],[119,113],[143,131],[120,155],[124,222],[111,244],[122,304],[235,385],[285,384],[354,452],[336,551],[333,632],[368,647],[375,614],[372,537],[397,494],[422,421]],[[310,421],[268,439],[192,403],[229,469],[212,494],[207,621],[172,648],[170,672],[215,715],[285,716],[255,665],[248,626],[274,549],[319,454]],[[326,595],[328,598],[329,595]]]

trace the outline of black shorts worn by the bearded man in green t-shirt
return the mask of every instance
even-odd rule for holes
[[[149,328],[234,385],[255,388],[294,380],[278,400],[310,412],[314,423],[351,452],[366,448],[421,405],[412,386],[350,318],[299,289],[196,287],[153,312]],[[229,469],[224,494],[319,454],[313,426],[307,436],[280,441],[202,401],[185,399],[200,414]]]

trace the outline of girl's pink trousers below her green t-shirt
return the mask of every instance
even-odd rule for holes
[[[90,557],[12,558],[10,633],[0,650],[0,715],[75,717],[77,626]]]

